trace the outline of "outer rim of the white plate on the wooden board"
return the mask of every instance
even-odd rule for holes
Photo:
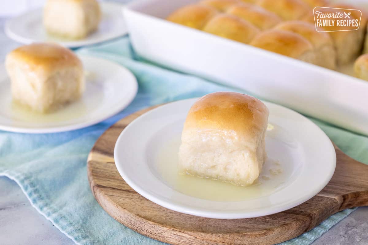
[[[206,217],[206,218],[213,218],[213,219],[244,219],[244,218],[252,218],[252,217],[260,217],[260,216],[266,216],[266,215],[272,215],[274,213],[279,213],[282,212],[284,210],[290,209],[290,208],[294,208],[298,205],[300,205],[303,202],[308,201],[309,199],[311,199],[312,197],[314,197],[316,194],[318,194],[321,190],[323,190],[323,188],[325,188],[325,186],[329,183],[329,181],[332,179],[333,174],[335,173],[335,169],[336,169],[336,151],[335,148],[333,147],[332,141],[329,139],[329,137],[326,135],[325,132],[323,132],[323,130],[318,127],[312,120],[308,119],[307,117],[305,117],[304,115],[293,111],[290,108],[284,107],[282,105],[278,105],[272,102],[268,102],[268,101],[263,101],[266,102],[267,104],[272,104],[275,105],[277,107],[281,107],[282,109],[286,109],[288,111],[291,111],[293,113],[296,113],[300,116],[302,116],[305,120],[308,120],[310,123],[312,123],[312,125],[319,131],[320,136],[325,138],[325,140],[327,140],[328,146],[331,150],[330,153],[332,153],[332,168],[329,171],[329,174],[326,175],[326,178],[324,179],[324,181],[321,181],[319,183],[319,188],[315,188],[315,190],[310,193],[309,195],[304,196],[303,198],[300,199],[296,199],[294,201],[289,202],[289,205],[285,205],[285,204],[279,204],[278,206],[270,206],[270,208],[265,211],[265,210],[255,210],[255,211],[251,211],[251,212],[231,212],[231,211],[208,211],[208,210],[204,210],[204,209],[200,209],[200,208],[195,208],[193,209],[192,207],[189,207],[188,205],[183,205],[180,203],[176,203],[176,202],[167,202],[163,199],[160,199],[159,197],[156,197],[155,195],[150,194],[149,192],[146,192],[143,188],[141,188],[139,186],[139,184],[136,184],[133,180],[130,179],[130,177],[125,174],[123,168],[121,167],[121,164],[118,164],[119,160],[119,154],[117,153],[119,147],[118,145],[120,144],[120,139],[121,137],[123,137],[123,133],[125,130],[129,130],[129,128],[134,125],[134,122],[136,120],[139,120],[142,116],[147,115],[147,114],[151,114],[151,113],[155,113],[155,111],[159,110],[161,107],[164,107],[166,105],[169,104],[173,104],[176,102],[181,102],[181,101],[190,101],[193,100],[193,102],[195,100],[198,100],[199,97],[197,98],[188,98],[188,99],[184,99],[184,100],[178,100],[178,101],[173,101],[173,102],[169,102],[166,103],[164,105],[161,105],[159,107],[156,107],[144,114],[142,114],[141,116],[139,116],[138,118],[134,119],[131,123],[129,123],[129,125],[127,125],[127,127],[124,128],[123,131],[121,131],[121,133],[119,134],[116,143],[114,145],[114,162],[115,162],[115,166],[120,174],[120,176],[124,179],[124,181],[134,190],[136,191],[139,195],[142,195],[143,197],[145,197],[146,199],[149,199],[150,201],[163,206],[164,208],[168,208],[171,210],[174,210],[176,212],[180,212],[180,213],[185,213],[185,214],[189,214],[189,215],[195,215],[195,216],[201,216],[201,217]],[[171,187],[170,187],[171,188]],[[175,191],[175,190],[174,190]],[[179,192],[180,193],[180,192]],[[198,198],[199,199],[199,198]],[[209,200],[206,200],[209,201]],[[215,202],[215,201],[213,201]]]

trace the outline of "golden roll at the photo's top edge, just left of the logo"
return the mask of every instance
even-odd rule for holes
[[[258,0],[256,3],[284,20],[301,19],[310,11],[309,6],[301,0]]]

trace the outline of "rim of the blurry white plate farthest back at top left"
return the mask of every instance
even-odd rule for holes
[[[121,8],[121,9],[125,8],[125,6],[126,6],[126,4],[111,2],[111,1],[110,2],[102,1],[102,2],[99,2],[99,4],[100,4],[100,6],[102,6],[102,5],[109,6],[109,7],[116,6],[116,8]],[[47,42],[45,40],[32,39],[32,38],[24,37],[20,34],[17,34],[16,32],[14,32],[10,28],[10,25],[12,24],[12,22],[17,20],[18,18],[25,17],[26,15],[29,15],[31,13],[36,13],[36,12],[41,12],[42,13],[42,10],[43,10],[43,8],[36,8],[36,9],[28,10],[26,12],[23,12],[19,15],[16,15],[12,18],[7,19],[4,23],[4,33],[5,33],[5,35],[7,37],[9,37],[10,39],[14,40],[15,42],[22,43],[22,44],[31,44],[31,43],[35,43],[35,42]],[[122,21],[124,21],[124,24],[125,24],[124,18],[121,18],[121,19],[122,19]],[[80,40],[71,40],[71,41],[53,40],[51,42],[56,42],[56,43],[60,44],[61,46],[64,46],[64,47],[67,47],[67,48],[78,48],[78,47],[84,47],[84,46],[89,46],[89,45],[98,44],[98,43],[106,42],[106,41],[109,41],[109,40],[113,40],[113,39],[116,39],[118,37],[127,35],[127,33],[128,33],[128,29],[126,28],[126,24],[125,24],[125,29],[123,31],[120,30],[119,33],[117,33],[115,35],[112,35],[110,37],[103,38],[101,40],[88,41],[88,36],[87,36],[86,38],[80,39]]]

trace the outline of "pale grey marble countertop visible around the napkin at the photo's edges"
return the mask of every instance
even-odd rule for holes
[[[0,18],[0,61],[20,44],[4,35]],[[32,207],[20,187],[7,177],[0,177],[1,245],[69,245],[74,242]],[[312,245],[368,245],[368,207],[355,210]]]

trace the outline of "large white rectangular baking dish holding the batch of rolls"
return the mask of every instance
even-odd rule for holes
[[[164,66],[368,135],[368,82],[164,19],[194,2],[132,2],[124,15],[134,50]]]

